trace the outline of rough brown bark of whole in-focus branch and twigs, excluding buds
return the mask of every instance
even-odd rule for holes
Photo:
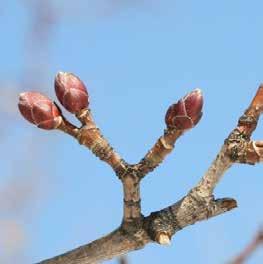
[[[145,217],[140,207],[140,181],[156,168],[169,154],[176,139],[185,130],[168,128],[153,148],[135,165],[127,164],[102,136],[84,110],[76,116],[82,127],[76,128],[65,120],[60,128],[88,147],[101,160],[107,162],[123,183],[124,217],[122,224],[109,235],[61,256],[39,262],[41,264],[89,264],[111,259],[130,251],[141,249],[149,242],[167,244],[183,228],[198,221],[223,214],[237,207],[234,199],[215,199],[214,188],[233,163],[255,164],[262,161],[263,144],[251,141],[259,115],[263,111],[263,88],[260,87],[251,105],[239,119],[217,157],[200,182],[175,204]]]

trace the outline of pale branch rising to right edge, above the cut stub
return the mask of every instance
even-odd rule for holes
[[[262,111],[263,86],[260,86],[249,108],[240,117],[237,127],[225,140],[216,159],[193,189],[199,196],[212,195],[217,183],[233,163],[255,164],[262,160],[262,142],[250,140]]]

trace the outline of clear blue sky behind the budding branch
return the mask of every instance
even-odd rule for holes
[[[263,82],[260,0],[55,0],[48,40],[30,2],[0,8],[0,232],[17,239],[0,238],[7,264],[58,255],[112,231],[122,218],[122,188],[111,169],[68,136],[25,122],[16,110],[19,92],[54,99],[55,74],[77,74],[105,137],[134,163],[162,134],[168,106],[201,88],[201,122],[142,183],[147,215],[198,182]],[[41,2],[44,12],[48,1]],[[254,138],[263,139],[262,128]],[[169,247],[132,252],[130,263],[226,263],[263,223],[262,176],[261,164],[233,166],[215,195],[237,199],[238,209],[184,229]],[[262,259],[259,250],[248,263]]]

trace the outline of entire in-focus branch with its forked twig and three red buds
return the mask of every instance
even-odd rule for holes
[[[145,217],[141,212],[141,180],[163,162],[181,135],[197,125],[202,116],[201,90],[192,91],[169,107],[164,134],[137,164],[124,161],[102,135],[88,108],[87,89],[77,76],[58,73],[55,91],[63,107],[81,122],[80,127],[70,123],[50,99],[36,92],[20,95],[21,114],[40,128],[58,129],[72,136],[112,167],[123,184],[123,219],[120,227],[107,236],[39,263],[89,264],[140,249],[149,242],[169,245],[172,236],[183,228],[237,207],[232,198],[213,196],[217,183],[232,164],[263,161],[263,141],[251,140],[263,112],[263,86],[260,86],[200,182],[175,204]]]

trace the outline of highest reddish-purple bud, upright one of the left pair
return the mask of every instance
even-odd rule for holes
[[[88,107],[87,89],[84,83],[72,73],[59,72],[57,74],[55,91],[60,103],[73,114]]]

